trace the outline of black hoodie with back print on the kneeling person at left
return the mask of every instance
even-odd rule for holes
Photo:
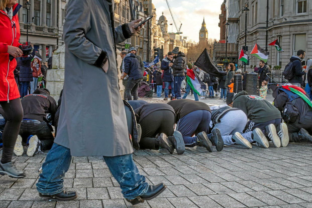
[[[46,114],[52,115],[52,125],[54,126],[54,116],[56,112],[56,101],[50,96],[46,89],[37,88],[33,94],[26,95],[22,99],[24,119],[35,119],[44,121]]]

